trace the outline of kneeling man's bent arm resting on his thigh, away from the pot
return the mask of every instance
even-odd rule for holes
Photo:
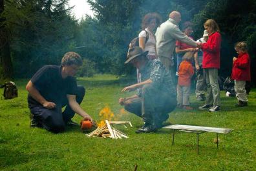
[[[47,101],[43,96],[41,96],[41,94],[36,89],[36,87],[34,86],[32,81],[28,81],[28,84],[26,86],[26,90],[28,91],[30,96],[33,97],[33,99],[35,99],[38,103],[40,103],[45,108],[50,109],[50,108],[55,108],[56,107],[55,103]]]

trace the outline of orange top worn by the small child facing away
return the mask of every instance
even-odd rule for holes
[[[190,86],[193,74],[194,69],[192,63],[189,61],[182,61],[178,67],[178,85]]]

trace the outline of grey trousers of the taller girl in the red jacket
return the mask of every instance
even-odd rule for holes
[[[206,105],[220,106],[220,87],[217,68],[204,68],[206,73]]]

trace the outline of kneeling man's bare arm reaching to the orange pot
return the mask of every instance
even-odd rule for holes
[[[92,121],[92,117],[89,116],[89,114],[87,114],[87,112],[85,112],[81,108],[81,106],[78,104],[78,102],[76,101],[76,95],[67,94],[67,99],[69,101],[70,107],[72,108],[72,110],[74,112],[76,112],[76,114],[80,115],[85,120],[91,120]]]

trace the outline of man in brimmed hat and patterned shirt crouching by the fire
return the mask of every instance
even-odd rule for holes
[[[144,125],[136,133],[155,132],[168,119],[169,112],[176,106],[176,90],[173,75],[165,70],[159,59],[149,60],[147,51],[134,47],[129,49],[127,61],[138,69],[142,82],[123,88],[122,92],[129,92],[140,88],[131,97],[120,98],[119,103],[125,110],[142,117]]]

